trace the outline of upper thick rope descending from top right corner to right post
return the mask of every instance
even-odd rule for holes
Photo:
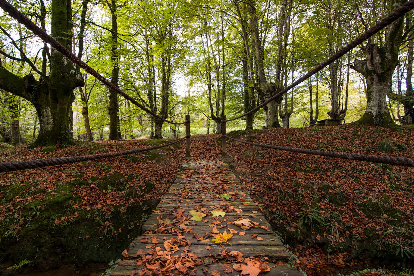
[[[3,0],[1,0],[1,1],[3,1]],[[328,58],[327,60],[322,62],[320,65],[318,65],[315,68],[313,68],[312,70],[310,70],[303,77],[298,79],[296,82],[292,83],[291,85],[287,86],[285,89],[283,89],[282,91],[280,91],[276,95],[274,95],[271,98],[267,99],[267,101],[264,101],[263,103],[256,106],[252,110],[249,110],[248,112],[246,112],[246,113],[244,113],[244,114],[242,114],[242,115],[240,115],[236,118],[223,120],[222,122],[229,122],[229,121],[237,120],[237,119],[240,119],[240,118],[246,116],[247,114],[250,114],[252,112],[255,112],[255,111],[259,110],[260,108],[262,108],[266,104],[270,103],[271,101],[275,100],[276,98],[282,96],[283,94],[285,94],[287,91],[291,90],[292,88],[294,88],[298,84],[301,84],[302,82],[306,81],[306,79],[308,79],[309,77],[311,77],[314,74],[318,73],[320,70],[327,67],[328,65],[330,65],[335,60],[341,58],[343,55],[348,53],[350,50],[354,49],[356,46],[363,43],[368,38],[370,38],[374,34],[378,33],[380,30],[384,29],[386,26],[390,25],[395,20],[402,17],[404,14],[406,14],[407,12],[412,10],[413,8],[414,8],[414,0],[409,0],[408,2],[401,5],[399,8],[395,9],[388,17],[386,17],[382,21],[378,22],[375,26],[371,27],[368,31],[363,33],[361,36],[356,38],[354,41],[349,43],[347,46],[345,46],[341,50],[337,51],[334,55],[332,55],[330,58]]]

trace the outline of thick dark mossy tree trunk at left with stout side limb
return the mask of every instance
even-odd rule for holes
[[[51,35],[72,50],[72,2],[53,0]],[[49,76],[37,81],[32,74],[19,77],[0,67],[0,89],[31,102],[39,116],[39,135],[31,146],[72,144],[69,132],[69,108],[75,100],[73,90],[84,81],[72,62],[51,49]]]

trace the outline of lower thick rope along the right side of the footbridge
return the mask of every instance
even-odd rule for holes
[[[328,157],[350,159],[350,160],[357,160],[357,161],[366,161],[366,162],[373,162],[373,163],[385,163],[385,164],[397,165],[397,166],[414,167],[414,159],[412,158],[393,157],[393,156],[376,156],[376,155],[368,155],[368,154],[350,154],[347,152],[337,152],[337,151],[318,151],[316,149],[289,148],[286,146],[272,146],[272,145],[265,145],[265,144],[257,144],[257,143],[247,142],[247,141],[243,141],[239,139],[234,139],[227,135],[223,135],[223,136],[236,142],[240,142],[240,143],[244,143],[244,144],[248,144],[252,146],[261,146],[263,148],[279,149],[282,151],[293,151],[293,152],[298,152],[301,154],[313,154],[313,155],[328,156]]]

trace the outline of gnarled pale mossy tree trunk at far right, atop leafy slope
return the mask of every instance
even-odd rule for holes
[[[393,2],[393,8],[404,1]],[[392,74],[398,63],[398,53],[402,43],[404,17],[392,23],[386,32],[382,46],[371,42],[366,48],[366,59],[355,59],[351,67],[361,73],[367,84],[367,106],[364,115],[356,123],[380,127],[395,127],[387,108],[387,93]]]

